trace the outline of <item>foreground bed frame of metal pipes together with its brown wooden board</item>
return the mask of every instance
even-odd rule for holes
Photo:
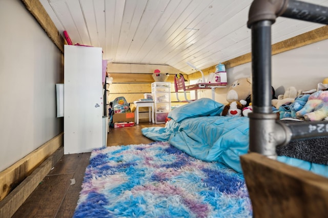
[[[328,23],[328,8],[294,0],[254,0],[252,29],[253,113],[250,152],[240,156],[253,217],[326,217],[328,178],[276,160],[276,147],[292,139],[328,135],[328,122],[282,123],[271,109],[271,25],[283,16]]]

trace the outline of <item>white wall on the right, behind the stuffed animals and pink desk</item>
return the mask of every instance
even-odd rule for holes
[[[219,62],[219,60],[218,60]],[[242,77],[251,77],[251,63],[227,69],[228,87]],[[316,89],[318,83],[328,78],[328,40],[272,56],[272,86],[278,94],[290,86],[298,90]],[[191,81],[191,84],[195,81]],[[215,100],[226,104],[227,89],[217,89]],[[206,91],[202,97],[211,98]]]

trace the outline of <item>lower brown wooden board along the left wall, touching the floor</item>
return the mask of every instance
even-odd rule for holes
[[[31,195],[33,190],[44,179],[50,169],[58,162],[61,157],[63,157],[63,155],[64,148],[61,147],[57,149],[57,151],[55,151],[41,165],[39,165],[31,175],[29,175],[22,183],[20,183],[13,191],[11,191],[9,195],[0,202],[0,217],[11,217]]]

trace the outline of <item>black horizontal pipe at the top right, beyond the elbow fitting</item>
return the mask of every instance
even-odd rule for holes
[[[289,0],[282,17],[305,20],[315,23],[328,24],[328,8],[305,3],[295,0]]]

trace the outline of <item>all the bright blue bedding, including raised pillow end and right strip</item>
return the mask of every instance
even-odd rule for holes
[[[249,149],[249,118],[220,116],[224,105],[202,98],[169,113],[165,127],[149,127],[142,134],[172,146],[203,161],[219,161],[241,173],[239,156]],[[278,160],[328,177],[328,166],[291,157]]]

